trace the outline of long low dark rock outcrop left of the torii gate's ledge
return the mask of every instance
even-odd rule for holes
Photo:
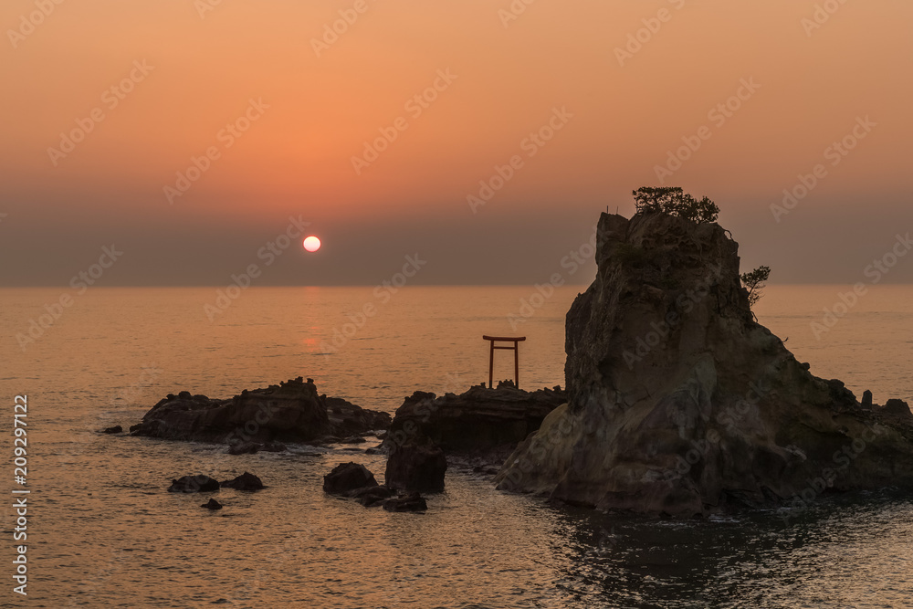
[[[390,415],[327,398],[317,393],[313,380],[299,377],[266,389],[245,390],[226,400],[185,391],[168,394],[130,431],[133,436],[226,442],[234,446],[234,452],[244,453],[277,446],[276,440],[307,442],[323,436],[350,436],[389,422]]]

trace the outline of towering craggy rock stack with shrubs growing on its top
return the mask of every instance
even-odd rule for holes
[[[593,285],[567,315],[568,404],[500,488],[678,516],[913,488],[913,435],[813,376],[751,315],[716,224],[603,214]]]

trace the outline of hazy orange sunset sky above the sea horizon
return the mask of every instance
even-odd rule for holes
[[[0,285],[531,284],[642,185],[771,282],[913,229],[909,0],[56,2],[0,5]]]

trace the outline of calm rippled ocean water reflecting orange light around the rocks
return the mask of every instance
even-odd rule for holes
[[[13,397],[27,394],[31,489],[28,599],[12,592],[9,500],[0,604],[913,606],[913,501],[889,493],[821,500],[789,520],[766,511],[676,522],[551,507],[450,472],[425,515],[393,514],[321,490],[343,460],[382,478],[384,457],[341,446],[232,457],[95,433],[131,425],[167,393],[230,396],[296,376],[393,412],[416,389],[459,393],[486,380],[483,333],[528,337],[520,386],[563,386],[564,313],[577,291],[540,299],[530,288],[407,288],[387,300],[373,289],[254,288],[207,316],[215,289],[90,289],[23,351],[16,333],[73,292],[0,290],[0,437],[10,455]],[[871,288],[816,337],[812,322],[842,291],[771,287],[758,314],[813,373],[857,395],[871,389],[882,404],[913,400],[913,288]],[[496,376],[509,377],[509,355],[496,355]],[[12,478],[12,464],[5,469]],[[223,489],[219,512],[165,492],[184,474],[245,470],[269,488]]]

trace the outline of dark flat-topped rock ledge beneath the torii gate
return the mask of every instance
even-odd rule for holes
[[[463,394],[441,397],[416,391],[396,410],[383,446],[392,450],[426,436],[447,454],[478,453],[497,446],[512,449],[566,400],[561,391],[526,392],[505,383],[494,390],[477,385]]]

